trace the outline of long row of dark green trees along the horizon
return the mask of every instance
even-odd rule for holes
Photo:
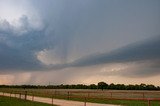
[[[0,85],[0,88],[22,88],[22,89],[110,89],[110,90],[160,90],[160,86],[154,86],[152,84],[107,84],[105,82],[99,82],[98,84],[61,84],[61,85]]]

